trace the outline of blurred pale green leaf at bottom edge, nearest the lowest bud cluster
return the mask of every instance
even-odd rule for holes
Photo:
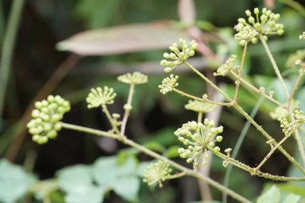
[[[112,184],[114,192],[128,201],[138,201],[138,192],[140,189],[140,179],[133,177],[125,177],[116,180]]]

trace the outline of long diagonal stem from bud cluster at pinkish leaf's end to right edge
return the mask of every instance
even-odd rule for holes
[[[272,55],[271,55],[272,56]],[[274,60],[274,59],[273,59]],[[236,101],[232,100],[225,92],[223,92],[219,87],[217,87],[214,83],[212,83],[208,78],[206,78],[204,75],[202,75],[199,71],[197,71],[195,69],[195,67],[193,67],[191,64],[189,64],[188,62],[184,62],[188,67],[190,67],[190,69],[192,69],[197,75],[199,75],[204,81],[206,81],[208,84],[210,84],[212,87],[214,87],[218,92],[220,92],[222,95],[225,96],[226,99],[228,99],[228,101],[230,101],[231,105],[235,107],[235,109],[241,114],[243,115],[247,120],[249,120],[252,125],[254,125],[256,127],[256,129],[261,132],[263,134],[263,136],[265,136],[268,140],[272,140],[272,137],[257,123],[255,122],[255,120],[253,120],[251,118],[251,116],[249,116],[247,114],[247,112],[245,112],[238,104]],[[174,89],[174,88],[173,88]],[[187,94],[185,94],[185,96],[188,96]],[[192,97],[191,97],[192,98]],[[273,141],[273,145],[277,145],[278,143],[276,141]],[[288,158],[289,161],[291,161],[304,175],[305,175],[305,168],[303,168],[282,146],[279,146],[279,150],[282,152],[282,154],[284,154],[284,156],[286,156]]]

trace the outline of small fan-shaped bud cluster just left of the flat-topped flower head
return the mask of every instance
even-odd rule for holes
[[[114,93],[113,88],[108,88],[105,86],[103,89],[98,87],[96,89],[92,88],[91,92],[88,94],[86,101],[88,103],[88,109],[96,108],[102,105],[112,105],[114,103]]]

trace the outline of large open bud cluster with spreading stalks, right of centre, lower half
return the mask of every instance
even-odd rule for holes
[[[182,127],[174,132],[178,140],[188,146],[187,149],[178,149],[180,157],[187,158],[187,162],[193,163],[193,167],[198,167],[202,154],[204,154],[202,165],[206,165],[205,159],[209,158],[207,149],[213,148],[215,142],[221,142],[223,140],[221,136],[217,136],[219,133],[223,132],[223,126],[214,126],[214,121],[209,121],[208,119],[205,119],[203,123],[191,121],[183,124]],[[216,136],[216,141],[212,141]],[[215,147],[214,150],[220,152],[219,147]],[[198,160],[196,160],[196,157],[199,157]]]

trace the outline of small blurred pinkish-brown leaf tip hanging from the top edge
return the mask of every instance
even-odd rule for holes
[[[196,20],[196,9],[193,0],[179,0],[178,2],[179,19],[187,24]]]

